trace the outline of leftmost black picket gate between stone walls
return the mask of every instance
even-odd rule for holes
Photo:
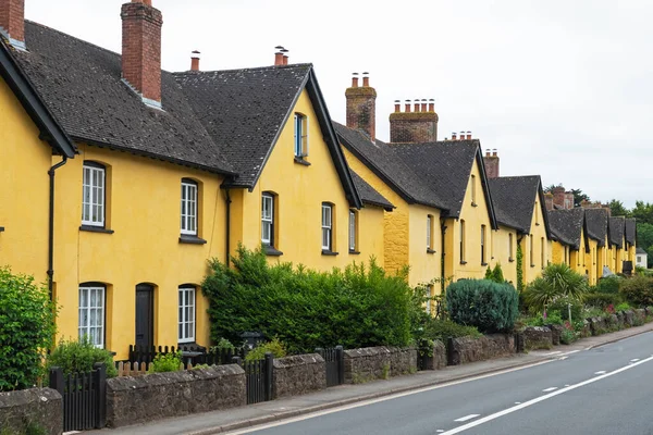
[[[63,375],[50,369],[50,388],[63,397],[63,432],[104,427],[107,421],[107,368],[96,363],[91,372]]]

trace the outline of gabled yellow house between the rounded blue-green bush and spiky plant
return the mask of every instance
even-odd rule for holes
[[[551,231],[542,181],[539,175],[508,176],[490,178],[489,184],[496,219],[501,224],[500,237],[505,239],[506,234],[508,239],[515,237],[522,256],[523,282],[521,284],[527,285],[540,276],[552,256],[549,244]],[[504,275],[515,276],[514,283],[517,286],[519,264],[515,261],[513,244],[509,244],[508,249],[505,249],[505,245],[502,244],[501,249],[497,247],[495,252],[502,264],[506,264],[503,268]]]

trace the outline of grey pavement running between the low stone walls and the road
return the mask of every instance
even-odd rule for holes
[[[147,425],[136,425],[120,430],[103,430],[104,435],[122,435],[122,434],[157,434],[157,435],[173,435],[173,434],[215,434],[224,433],[230,430],[254,426],[256,424],[279,421],[298,415],[306,415],[312,412],[324,411],[336,407],[360,403],[365,400],[378,399],[397,393],[412,391],[419,388],[430,387],[434,385],[445,385],[447,383],[468,380],[475,376],[490,376],[492,373],[517,370],[532,364],[539,365],[538,370],[546,371],[547,366],[560,366],[564,361],[557,361],[559,358],[565,358],[564,353],[572,352],[567,356],[567,359],[578,359],[581,352],[588,352],[588,349],[624,339],[629,336],[642,334],[653,331],[653,323],[640,327],[633,327],[617,333],[607,334],[599,337],[591,337],[579,340],[572,346],[558,346],[552,351],[535,351],[528,355],[518,355],[510,358],[503,358],[491,361],[458,365],[446,368],[441,371],[418,372],[415,375],[395,377],[389,381],[370,382],[362,385],[343,385],[340,387],[329,388],[322,391],[288,398],[257,403],[227,411],[215,411],[202,414],[188,415],[184,418],[170,419],[165,421],[152,422]],[[653,334],[652,334],[653,335]],[[550,361],[557,361],[554,364]],[[605,369],[607,370],[607,369]],[[526,373],[526,369],[519,372]],[[517,373],[516,371],[513,373]],[[530,377],[527,374],[523,383],[528,384]],[[553,375],[552,375],[553,376]],[[490,377],[476,382],[489,382]],[[460,384],[461,385],[461,384]],[[481,384],[479,384],[481,385]],[[484,385],[484,384],[483,384]],[[543,388],[542,388],[543,389]],[[517,401],[517,400],[515,400]],[[427,411],[424,411],[428,413]],[[486,412],[486,411],[484,411]],[[479,413],[479,412],[471,412]],[[466,417],[469,414],[460,415]],[[98,432],[98,431],[94,431]],[[309,433],[313,433],[312,428]],[[333,432],[331,432],[333,433]],[[431,433],[435,433],[434,431]]]

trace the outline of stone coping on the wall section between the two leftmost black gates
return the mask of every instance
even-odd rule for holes
[[[212,365],[208,369],[183,370],[178,372],[151,373],[144,376],[122,376],[107,380],[107,390],[124,391],[168,384],[180,384],[225,376],[237,376],[245,371],[238,364]]]

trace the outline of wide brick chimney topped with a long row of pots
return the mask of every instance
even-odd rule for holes
[[[392,144],[423,144],[438,140],[438,113],[433,99],[416,99],[410,111],[410,100],[406,100],[406,110],[390,114],[390,141]],[[455,139],[454,139],[455,140]]]

